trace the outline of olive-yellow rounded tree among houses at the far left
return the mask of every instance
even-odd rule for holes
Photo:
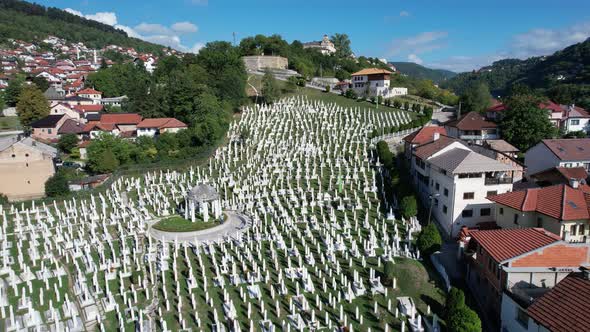
[[[22,89],[16,112],[23,127],[29,128],[34,121],[48,116],[49,110],[49,102],[36,85],[27,85]]]

